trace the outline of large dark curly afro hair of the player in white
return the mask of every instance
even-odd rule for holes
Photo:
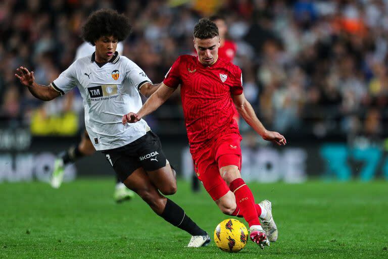
[[[123,41],[131,33],[129,19],[112,9],[101,9],[89,15],[81,29],[81,37],[94,46],[101,36],[114,36]]]

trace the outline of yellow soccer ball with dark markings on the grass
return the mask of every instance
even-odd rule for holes
[[[214,230],[214,241],[223,251],[238,252],[247,244],[248,229],[238,220],[224,220]]]

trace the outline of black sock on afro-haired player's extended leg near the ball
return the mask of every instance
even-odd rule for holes
[[[192,236],[207,235],[205,230],[193,222],[183,209],[170,199],[167,199],[166,207],[160,216],[171,225],[186,231]]]

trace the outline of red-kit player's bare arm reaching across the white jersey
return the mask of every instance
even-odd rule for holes
[[[143,104],[141,109],[137,113],[128,113],[123,116],[122,123],[135,123],[141,120],[144,116],[149,115],[158,109],[163,103],[171,96],[175,91],[174,88],[166,86],[161,83],[160,87],[154,92],[150,98]]]

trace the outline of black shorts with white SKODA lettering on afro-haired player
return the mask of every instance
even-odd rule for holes
[[[155,171],[167,163],[160,139],[152,131],[125,146],[104,150],[103,153],[122,182],[140,167]]]

